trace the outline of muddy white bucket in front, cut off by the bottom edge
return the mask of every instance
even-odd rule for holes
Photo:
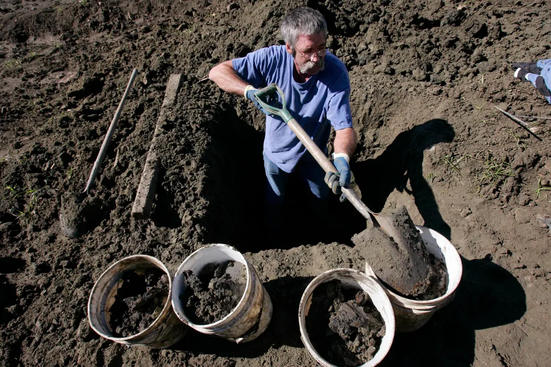
[[[385,358],[388,350],[390,350],[390,347],[392,346],[395,332],[394,313],[392,311],[390,300],[388,300],[385,290],[380,286],[379,282],[358,270],[328,270],[315,277],[314,280],[308,284],[306,290],[302,293],[302,298],[300,299],[299,305],[299,328],[302,343],[304,343],[308,353],[310,353],[312,358],[314,358],[318,364],[324,367],[335,367],[317,353],[310,341],[308,333],[306,332],[306,316],[308,315],[308,311],[310,310],[310,306],[312,304],[312,294],[318,286],[332,280],[339,280],[342,282],[344,287],[361,289],[365,293],[369,294],[375,308],[381,314],[383,321],[385,321],[386,332],[385,336],[382,337],[379,350],[377,350],[377,353],[375,353],[374,357],[370,361],[360,365],[361,367],[376,366],[383,360],[383,358]]]

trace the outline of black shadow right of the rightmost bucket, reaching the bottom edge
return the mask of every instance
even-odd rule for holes
[[[471,366],[476,330],[510,324],[525,314],[526,294],[509,271],[488,259],[461,261],[455,299],[418,331],[396,333],[381,366]]]

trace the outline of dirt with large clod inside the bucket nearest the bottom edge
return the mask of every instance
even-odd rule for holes
[[[386,327],[368,294],[333,280],[312,294],[306,331],[323,359],[358,366],[374,357]]]

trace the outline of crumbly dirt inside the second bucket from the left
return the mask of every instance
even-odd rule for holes
[[[245,292],[246,270],[240,262],[211,262],[198,275],[191,270],[184,275],[186,288],[180,299],[193,324],[206,325],[223,319]]]

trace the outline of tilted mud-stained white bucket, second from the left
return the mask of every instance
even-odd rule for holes
[[[185,314],[179,293],[185,293],[186,282],[183,272],[191,270],[195,275],[209,263],[220,264],[233,260],[245,266],[247,280],[245,291],[237,305],[223,319],[212,324],[194,324]],[[262,286],[255,268],[233,247],[224,244],[208,245],[188,256],[174,276],[172,307],[186,325],[204,334],[216,335],[236,343],[249,342],[260,336],[272,319],[272,300]]]

